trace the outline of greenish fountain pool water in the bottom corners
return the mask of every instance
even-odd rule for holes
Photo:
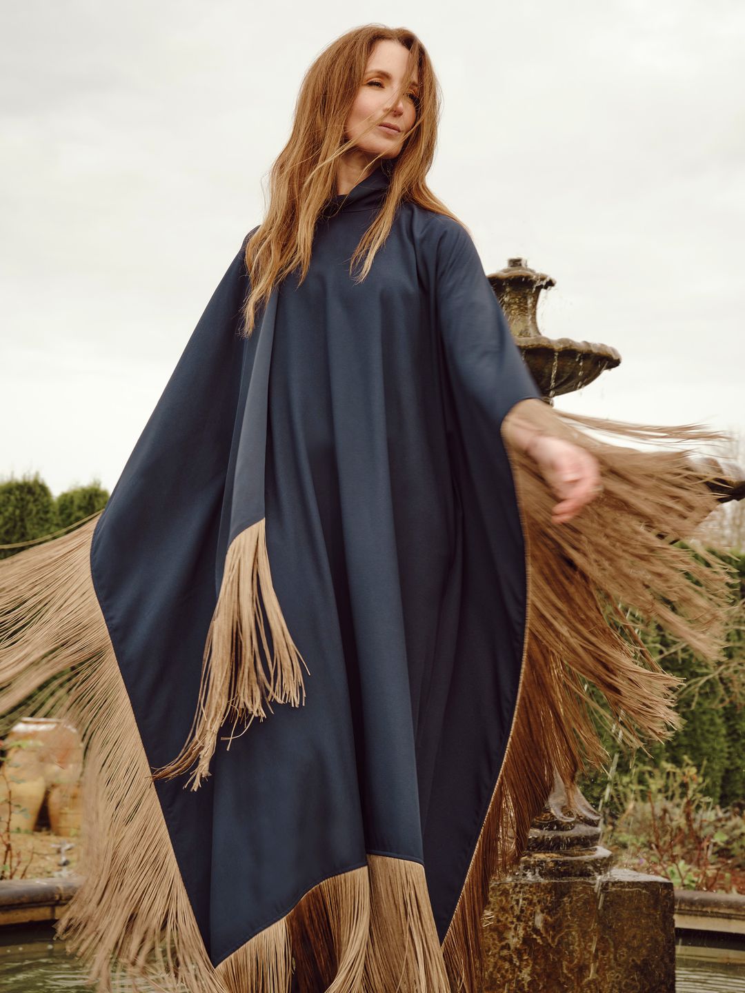
[[[742,952],[679,947],[676,993],[745,993]],[[697,957],[698,955],[702,957]],[[740,959],[740,960],[733,960]],[[114,984],[115,990],[131,989]],[[139,993],[151,987],[138,983]],[[77,961],[51,925],[8,927],[0,931],[0,991],[3,993],[91,993]]]

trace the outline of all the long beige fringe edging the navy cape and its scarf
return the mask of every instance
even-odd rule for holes
[[[579,768],[605,758],[590,720],[590,686],[605,695],[632,745],[662,739],[675,724],[677,680],[650,656],[635,619],[621,605],[659,622],[710,659],[721,656],[727,617],[735,609],[731,571],[705,548],[696,548],[694,557],[671,544],[688,537],[717,505],[700,463],[691,468],[685,450],[640,452],[596,441],[580,428],[668,443],[721,436],[695,427],[645,427],[561,413],[557,418],[550,410],[537,416],[550,418],[554,430],[560,424],[575,443],[594,452],[605,492],[567,523],[551,524],[555,498],[535,466],[509,449],[527,570],[522,675],[506,759],[441,949],[423,868],[369,856],[367,867],[314,887],[286,918],[215,969],[93,591],[89,552],[97,518],[0,562],[0,712],[22,705],[46,684],[35,714],[69,720],[83,736],[86,877],[59,927],[102,993],[111,989],[112,966],[180,993],[286,993],[293,960],[302,993],[445,993],[448,987],[479,993],[482,915],[491,878],[519,860],[554,770],[570,782]],[[220,599],[228,605],[226,617],[232,616],[229,605],[236,605],[237,620],[224,621],[216,611],[210,658],[215,668],[222,657],[223,668],[212,697],[209,690],[201,697],[201,758],[214,747],[215,714],[237,716],[251,702],[258,712],[261,699],[268,704],[275,694],[297,702],[291,687],[300,684],[294,683],[293,665],[287,667],[291,641],[283,642],[278,605],[270,603],[267,619],[280,655],[287,652],[284,663],[275,649],[267,673],[249,653],[258,644],[255,591],[260,586],[266,598],[271,586],[262,528],[263,522],[244,539],[246,545],[236,546],[240,535],[228,552]],[[240,592],[246,589],[251,593],[243,603]],[[242,674],[234,679],[225,677],[225,656],[217,649],[224,652],[232,638],[242,652]]]

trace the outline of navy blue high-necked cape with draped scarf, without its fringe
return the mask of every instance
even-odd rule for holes
[[[198,790],[156,782],[216,965],[369,854],[423,864],[442,939],[512,727],[525,549],[500,427],[540,394],[452,218],[403,203],[354,281],[388,180],[331,199],[306,279],[247,340],[241,245],[93,537],[153,768],[189,732],[226,549],[261,517],[309,669],[304,705],[219,745]]]

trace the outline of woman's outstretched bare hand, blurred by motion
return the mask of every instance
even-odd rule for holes
[[[551,435],[533,438],[526,453],[556,497],[551,521],[562,524],[603,490],[600,466],[592,453]]]

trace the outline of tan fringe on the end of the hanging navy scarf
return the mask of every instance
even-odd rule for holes
[[[264,614],[271,635],[271,654]],[[261,647],[268,672],[262,662]],[[153,778],[173,779],[187,773],[196,763],[187,785],[198,789],[210,775],[210,763],[224,721],[228,718],[233,721],[227,737],[229,748],[235,725],[241,718],[250,717],[246,728],[254,717],[264,720],[264,704],[271,712],[271,700],[293,707],[305,703],[300,662],[310,672],[287,630],[274,592],[262,518],[241,531],[227,549],[223,584],[205,644],[194,722],[179,755],[157,770]]]

